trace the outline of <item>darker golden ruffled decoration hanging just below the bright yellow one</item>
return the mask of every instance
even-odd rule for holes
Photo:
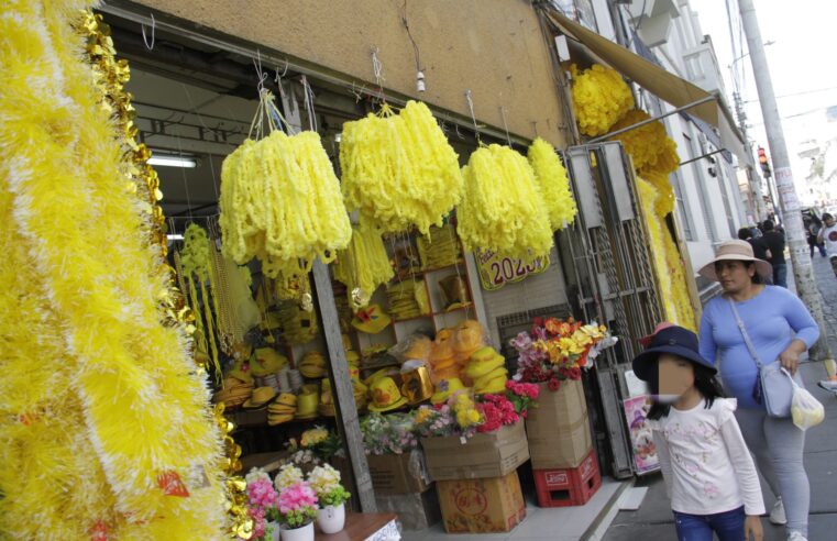
[[[613,129],[627,128],[650,118],[647,112],[634,109],[619,119]],[[680,166],[678,145],[665,133],[665,126],[660,121],[635,128],[612,139],[621,141],[625,152],[634,159],[634,168],[640,175],[648,172],[669,174]]]

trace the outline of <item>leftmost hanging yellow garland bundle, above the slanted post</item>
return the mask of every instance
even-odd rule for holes
[[[253,257],[276,277],[283,262],[328,263],[349,244],[352,230],[319,134],[276,130],[245,141],[221,168],[223,253],[243,265]]]

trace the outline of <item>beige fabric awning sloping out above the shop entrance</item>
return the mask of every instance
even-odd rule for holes
[[[738,156],[738,159],[744,163],[752,161],[745,150],[744,139],[735,125],[729,109],[717,92],[707,92],[701,87],[681,79],[657,64],[585,29],[559,12],[548,11],[547,15],[563,33],[581,42],[612,68],[658,98],[678,108],[703,101],[689,108],[689,113],[717,128],[722,145]],[[714,99],[707,100],[707,98]]]

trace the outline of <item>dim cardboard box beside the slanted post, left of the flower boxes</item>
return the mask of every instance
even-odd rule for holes
[[[376,494],[423,493],[432,483],[419,449],[405,454],[371,454],[366,462]]]

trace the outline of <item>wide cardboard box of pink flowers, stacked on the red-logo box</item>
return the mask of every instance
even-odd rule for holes
[[[463,440],[422,438],[427,468],[433,481],[503,477],[529,460],[524,423]]]

